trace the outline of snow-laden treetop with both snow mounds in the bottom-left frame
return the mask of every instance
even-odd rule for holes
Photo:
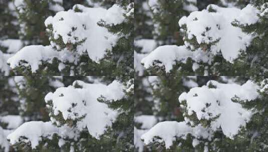
[[[32,148],[36,148],[44,138],[52,139],[55,134],[60,137],[60,147],[65,141],[77,140],[82,131],[88,131],[99,139],[115,121],[118,111],[98,99],[120,100],[125,97],[125,89],[117,80],[109,85],[76,80],[73,85],[59,87],[45,96],[51,121],[25,122],[7,138],[11,144],[25,142]]]

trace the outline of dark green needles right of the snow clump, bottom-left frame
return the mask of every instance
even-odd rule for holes
[[[126,87],[130,87],[134,84],[134,79],[124,83]],[[126,97],[121,100],[109,101],[103,97],[99,98],[100,102],[119,112],[116,121],[103,135],[109,138],[108,143],[112,145],[109,151],[134,150],[134,87],[125,91]]]

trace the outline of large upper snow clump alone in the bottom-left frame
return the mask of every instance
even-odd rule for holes
[[[76,84],[83,88],[75,88]],[[124,97],[123,89],[123,85],[118,81],[105,85],[77,80],[73,85],[60,87],[54,93],[48,93],[45,101],[52,101],[54,114],[62,112],[65,120],[85,116],[78,121],[78,129],[87,127],[92,136],[99,138],[106,126],[110,126],[115,120],[117,112],[108,108],[107,104],[99,102],[97,98],[103,95],[109,100],[119,100]]]

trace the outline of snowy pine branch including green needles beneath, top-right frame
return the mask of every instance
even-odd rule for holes
[[[256,35],[243,32],[233,23],[254,25],[259,21],[258,13],[252,4],[242,9],[210,4],[202,11],[191,12],[179,20],[184,45],[159,46],[141,63],[150,69],[162,67],[165,72],[181,70],[186,64],[192,64],[186,70],[202,75],[241,72],[238,63],[246,59],[241,56]]]

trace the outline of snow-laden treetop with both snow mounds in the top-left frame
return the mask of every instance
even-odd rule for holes
[[[25,66],[30,67],[32,72],[46,62],[52,63],[55,58],[60,61],[59,71],[66,67],[65,64],[79,64],[82,55],[99,62],[115,45],[118,36],[97,23],[102,19],[110,24],[119,24],[125,19],[124,13],[125,10],[117,4],[109,9],[77,4],[73,9],[60,11],[45,20],[51,45],[25,46],[7,62],[11,68]]]

